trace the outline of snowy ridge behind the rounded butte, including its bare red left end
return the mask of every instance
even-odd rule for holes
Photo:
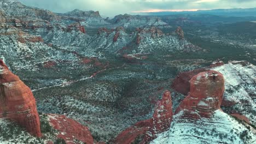
[[[210,68],[222,73],[225,79],[222,110],[242,121],[255,124],[255,65],[246,61],[230,61],[228,64],[217,61],[213,62]],[[187,94],[190,91],[189,80],[203,70],[195,69],[179,74],[173,81],[172,88],[179,93]]]

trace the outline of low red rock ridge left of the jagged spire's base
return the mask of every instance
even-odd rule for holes
[[[117,144],[130,144],[135,142],[135,140],[143,141],[143,137],[146,132],[150,128],[150,121],[151,119],[147,119],[145,121],[141,121],[132,125],[132,127],[127,128],[122,133],[120,133],[114,141],[110,143],[117,143]]]

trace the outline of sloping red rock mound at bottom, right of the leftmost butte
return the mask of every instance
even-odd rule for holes
[[[94,144],[94,139],[88,127],[63,115],[49,114],[48,116],[50,117],[50,124],[59,131],[57,137],[65,140],[67,144],[75,144],[75,140],[86,144]]]

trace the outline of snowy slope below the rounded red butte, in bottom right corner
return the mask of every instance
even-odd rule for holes
[[[170,130],[158,135],[150,142],[162,143],[254,143],[256,136],[245,125],[228,114],[217,110],[211,118],[185,119],[183,112],[173,117]]]

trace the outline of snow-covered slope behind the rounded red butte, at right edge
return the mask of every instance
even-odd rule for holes
[[[234,101],[233,110],[245,115],[255,125],[256,67],[247,62],[232,61],[213,68],[225,79],[224,100]],[[254,114],[253,114],[254,113]]]

